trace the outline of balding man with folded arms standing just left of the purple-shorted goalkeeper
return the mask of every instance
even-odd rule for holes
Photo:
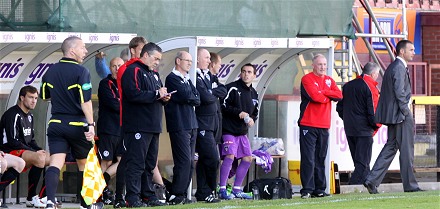
[[[208,69],[210,54],[206,49],[199,49],[197,53],[197,91],[200,94],[200,106],[196,107],[197,130],[196,151],[199,159],[196,165],[197,172],[197,201],[216,203],[214,191],[217,187],[218,166],[220,156],[214,131],[218,127],[218,100],[226,96],[226,87],[214,83],[214,75]],[[214,84],[214,87],[213,87]]]

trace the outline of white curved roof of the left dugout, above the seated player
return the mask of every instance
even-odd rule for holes
[[[39,87],[48,67],[62,57],[61,44],[67,37],[78,36],[86,44],[92,58],[96,51],[127,45],[136,34],[122,33],[62,33],[62,32],[0,32],[0,94],[8,95],[6,108],[16,104],[20,87]]]

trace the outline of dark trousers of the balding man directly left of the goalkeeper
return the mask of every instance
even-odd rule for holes
[[[213,131],[199,130],[197,132],[196,150],[199,160],[196,164],[197,200],[204,200],[217,187],[218,166],[220,156]]]

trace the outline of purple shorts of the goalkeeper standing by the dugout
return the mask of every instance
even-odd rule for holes
[[[237,159],[252,156],[251,145],[246,135],[223,135],[223,144],[220,145],[222,159],[225,155],[234,155]]]

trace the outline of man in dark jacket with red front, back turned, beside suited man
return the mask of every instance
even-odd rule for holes
[[[342,88],[343,99],[338,102],[336,111],[344,121],[354,171],[351,185],[363,184],[370,172],[373,136],[381,126],[374,120],[374,112],[379,101],[376,79],[379,65],[369,62],[364,66],[362,75],[346,83]]]

